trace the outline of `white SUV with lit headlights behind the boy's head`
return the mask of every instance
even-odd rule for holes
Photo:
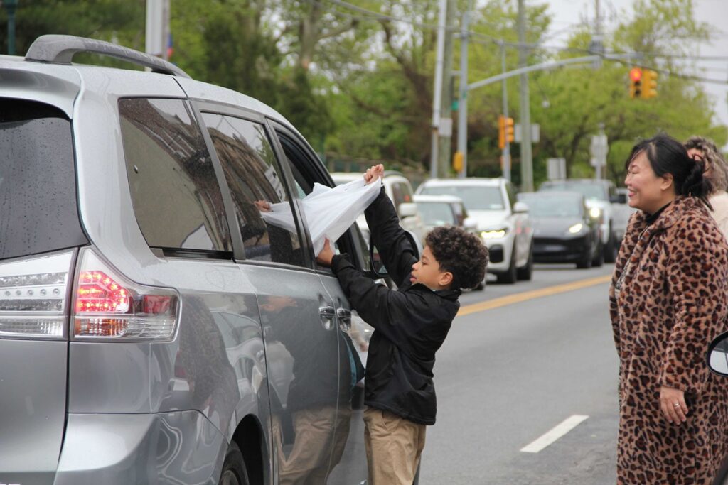
[[[529,207],[516,200],[510,181],[475,177],[432,179],[420,185],[417,193],[462,199],[488,247],[488,273],[494,273],[502,283],[531,279],[534,232]]]

